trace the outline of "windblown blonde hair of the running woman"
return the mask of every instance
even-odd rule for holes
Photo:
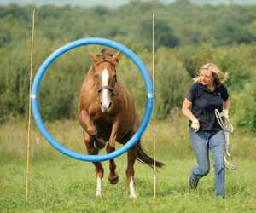
[[[207,71],[210,71],[212,73],[215,87],[219,87],[221,83],[224,83],[229,78],[228,73],[221,72],[218,69],[218,66],[216,66],[213,63],[207,63],[204,66],[201,66],[201,69],[199,70],[197,77],[193,78],[195,83],[201,83],[201,70],[203,69],[206,69]]]

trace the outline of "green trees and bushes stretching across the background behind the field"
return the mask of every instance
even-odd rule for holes
[[[29,98],[32,6],[0,8],[0,121],[26,115]],[[168,118],[181,107],[199,68],[213,62],[229,72],[225,85],[232,99],[236,127],[256,128],[256,7],[169,5],[131,2],[117,9],[42,6],[36,9],[33,77],[55,49],[83,37],[106,37],[135,52],[152,73],[152,14],[155,17],[156,117]],[[49,66],[39,89],[44,120],[77,118],[79,89],[92,60],[86,46],[67,52]],[[120,55],[119,78],[130,90],[142,117],[146,95],[137,67]]]

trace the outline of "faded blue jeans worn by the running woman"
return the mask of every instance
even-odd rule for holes
[[[210,171],[209,149],[212,152],[214,162],[214,193],[213,196],[225,196],[225,166],[224,150],[225,137],[224,130],[195,130],[189,127],[189,138],[193,147],[197,164],[191,171],[191,176],[201,178]]]

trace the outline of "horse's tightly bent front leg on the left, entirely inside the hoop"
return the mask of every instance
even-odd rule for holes
[[[90,118],[90,115],[85,110],[82,110],[81,112],[81,119],[82,123],[80,124],[83,126],[84,130],[93,138],[95,141],[95,147],[98,149],[102,149],[105,147],[106,143],[102,138],[97,137],[97,129],[95,124],[93,124],[93,121]]]

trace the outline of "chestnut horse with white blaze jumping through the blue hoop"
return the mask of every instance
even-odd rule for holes
[[[90,51],[89,51],[90,52]],[[120,52],[120,51],[119,51]],[[79,95],[79,124],[84,129],[84,143],[89,155],[96,155],[106,146],[107,153],[115,150],[115,142],[125,144],[139,127],[137,110],[131,94],[121,83],[116,73],[119,52],[104,48],[100,55],[90,52],[93,64],[87,72]],[[144,151],[140,139],[127,151],[126,177],[130,185],[131,198],[136,198],[133,186],[134,164],[138,161],[153,167],[154,159]],[[103,167],[101,162],[95,165],[97,187],[96,197],[102,197]],[[156,167],[165,164],[156,161]],[[108,182],[116,184],[119,175],[115,171],[114,159],[109,160]]]

